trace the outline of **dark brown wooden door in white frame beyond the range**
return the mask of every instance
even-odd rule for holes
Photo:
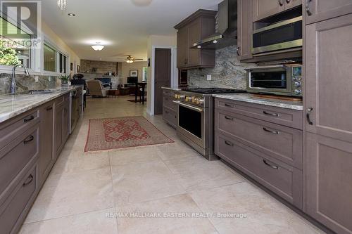
[[[163,114],[162,86],[170,87],[171,82],[171,49],[156,48],[155,51],[155,86],[154,86],[154,114]]]

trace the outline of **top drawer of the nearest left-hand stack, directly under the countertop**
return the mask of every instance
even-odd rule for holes
[[[10,143],[26,129],[39,122],[39,110],[31,110],[23,115],[0,124],[0,149]]]

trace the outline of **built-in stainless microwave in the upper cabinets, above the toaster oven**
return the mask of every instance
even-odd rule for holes
[[[303,46],[303,18],[298,16],[253,31],[252,53],[269,53]]]

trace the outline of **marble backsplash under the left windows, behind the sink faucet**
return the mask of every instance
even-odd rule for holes
[[[35,82],[33,75],[26,77],[24,74],[16,74],[17,92],[24,93],[28,90],[40,90],[40,89],[56,89],[60,86],[60,82],[57,82],[56,77],[49,76],[38,76],[38,82]],[[0,95],[10,93],[11,86],[11,74],[1,73],[0,74]]]

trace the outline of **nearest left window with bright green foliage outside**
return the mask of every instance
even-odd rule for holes
[[[0,65],[23,64],[30,68],[32,58],[30,43],[28,43],[31,39],[30,34],[21,31],[20,38],[11,38],[8,34],[4,35],[4,32],[2,32],[4,27],[10,34],[18,31],[18,27],[0,18]],[[18,35],[15,37],[18,37]]]

